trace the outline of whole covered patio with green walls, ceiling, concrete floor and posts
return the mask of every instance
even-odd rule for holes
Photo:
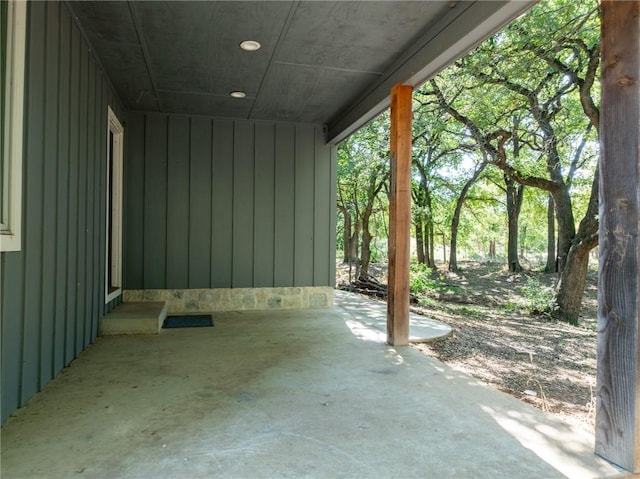
[[[2,2],[3,478],[617,474],[593,437],[402,347],[412,89],[534,3]],[[640,24],[602,6],[595,449],[640,471]],[[336,144],[390,105],[368,340],[332,306]],[[230,311],[99,338],[130,300]]]

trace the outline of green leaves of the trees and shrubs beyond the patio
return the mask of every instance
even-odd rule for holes
[[[476,165],[485,160],[493,164],[469,189],[461,210],[458,260],[506,258],[506,173],[499,168],[500,161],[519,175],[518,181],[529,181],[518,243],[525,267],[544,264],[549,185],[552,189],[566,186],[573,216],[569,223],[577,225],[585,214],[598,158],[598,136],[583,111],[579,84],[585,83],[593,59],[590,55],[598,48],[598,8],[596,0],[540,2],[436,77],[447,103],[476,125],[478,135],[442,108],[432,83],[414,92],[412,217],[414,225],[431,228],[434,237],[429,240],[437,261],[442,261],[443,250],[450,255],[451,223],[461,189]],[[599,90],[596,79],[590,90],[596,107]],[[537,106],[532,107],[531,100]],[[548,120],[546,129],[536,117],[539,111]],[[385,114],[338,147],[340,238],[344,236],[343,215],[349,215],[353,224],[362,218],[372,187],[388,174],[388,128]],[[498,145],[500,138],[504,143]],[[502,147],[504,158],[489,158],[483,143]],[[555,145],[557,158],[550,154],[550,145]],[[377,193],[373,204],[371,260],[384,261],[386,188]],[[339,246],[342,244],[340,241]],[[495,251],[491,257],[490,245]],[[412,266],[412,292],[442,288],[438,284],[431,271]],[[553,304],[553,291],[535,280],[527,280],[523,293],[526,309],[532,312],[549,311]],[[509,307],[524,309],[520,303]]]

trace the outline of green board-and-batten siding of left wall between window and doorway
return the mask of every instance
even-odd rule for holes
[[[107,105],[123,110],[65,4],[28,7],[22,250],[2,253],[2,422],[98,332]]]

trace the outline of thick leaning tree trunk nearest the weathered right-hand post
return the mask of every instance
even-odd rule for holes
[[[598,178],[599,168],[591,186],[591,196],[587,212],[580,222],[578,233],[567,255],[564,268],[560,272],[557,285],[554,315],[572,324],[578,324],[582,296],[587,280],[589,252],[598,245]]]

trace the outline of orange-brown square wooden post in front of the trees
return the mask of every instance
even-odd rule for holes
[[[412,93],[408,85],[391,89],[387,342],[395,346],[409,344]]]

